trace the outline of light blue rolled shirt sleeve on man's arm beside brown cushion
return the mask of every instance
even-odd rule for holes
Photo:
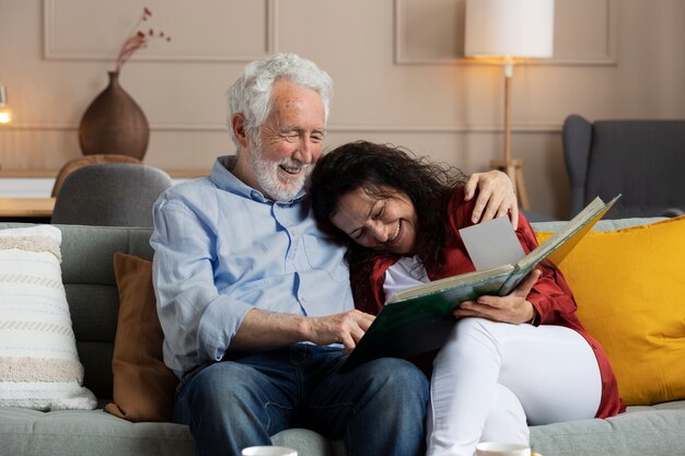
[[[185,372],[219,361],[252,305],[220,294],[213,277],[216,233],[184,202],[163,196],[154,206],[153,280],[165,336],[165,362]]]

